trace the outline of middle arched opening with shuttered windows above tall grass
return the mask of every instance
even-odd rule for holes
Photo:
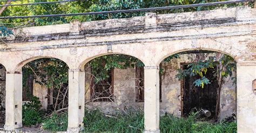
[[[93,58],[84,68],[85,131],[143,130],[144,63],[112,54]]]

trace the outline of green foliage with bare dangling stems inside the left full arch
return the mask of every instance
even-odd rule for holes
[[[30,86],[27,80],[31,80],[28,77],[32,75],[32,79],[35,79],[36,83],[48,88],[53,93],[57,93],[57,96],[53,98],[53,110],[67,107],[68,70],[68,65],[56,58],[40,58],[31,61],[22,68],[23,87],[29,90]],[[48,97],[53,97],[53,95],[48,94]]]

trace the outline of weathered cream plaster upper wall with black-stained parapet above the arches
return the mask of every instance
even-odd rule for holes
[[[145,19],[150,17],[150,21]],[[188,49],[223,51],[237,61],[252,61],[255,18],[253,9],[232,8],[74,22],[69,28],[68,24],[23,28],[15,32],[16,36],[4,39],[8,45],[0,45],[1,56],[12,58],[15,65],[9,65],[4,58],[0,62],[8,71],[20,71],[22,65],[35,58],[56,57],[76,69],[94,57],[111,54],[107,53],[108,48],[113,53],[135,56],[146,65],[156,65],[163,58]]]

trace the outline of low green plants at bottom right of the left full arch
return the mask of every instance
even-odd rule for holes
[[[53,113],[43,120],[42,127],[50,131],[66,131],[68,129],[68,113]]]

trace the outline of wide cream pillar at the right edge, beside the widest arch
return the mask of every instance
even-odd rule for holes
[[[238,132],[256,132],[256,95],[253,80],[256,79],[255,65],[237,66],[237,127]]]

